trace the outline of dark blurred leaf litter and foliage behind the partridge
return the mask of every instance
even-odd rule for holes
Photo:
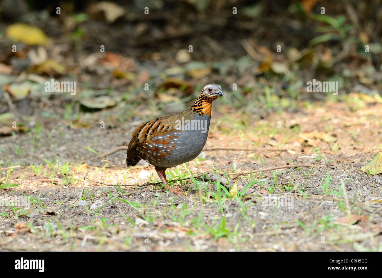
[[[186,109],[209,82],[229,92],[222,112],[235,109],[243,119],[312,101],[347,101],[356,110],[359,99],[381,101],[381,6],[380,0],[2,0],[0,113],[66,115],[82,124],[97,111],[116,124],[148,120]],[[53,78],[76,81],[77,94],[44,92]],[[307,93],[313,79],[338,81],[338,96]],[[351,93],[357,97],[349,100]]]

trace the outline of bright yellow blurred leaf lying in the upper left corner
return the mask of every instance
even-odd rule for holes
[[[45,45],[48,37],[38,27],[24,23],[15,23],[6,28],[6,36],[16,42],[28,45]]]

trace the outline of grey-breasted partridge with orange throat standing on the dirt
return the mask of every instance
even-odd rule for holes
[[[219,96],[224,96],[222,87],[207,84],[188,110],[139,125],[129,143],[127,166],[135,166],[144,159],[155,167],[165,188],[183,193],[168,186],[165,170],[191,161],[201,153],[207,141],[212,101]]]

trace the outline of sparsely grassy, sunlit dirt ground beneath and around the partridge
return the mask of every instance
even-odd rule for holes
[[[341,109],[343,111],[339,115]],[[246,191],[248,194],[238,199],[222,194],[221,201],[211,196],[205,198],[206,195],[197,190],[193,182],[183,183],[183,189],[187,192],[185,196],[174,196],[160,187],[154,191],[152,186],[142,185],[150,182],[150,175],[154,180],[159,180],[154,167],[138,165],[126,169],[122,163],[125,150],[102,159],[85,148],[109,151],[116,145],[111,146],[107,142],[123,143],[123,138],[128,137],[134,127],[113,130],[88,127],[87,136],[84,136],[83,129],[63,127],[65,140],[52,130],[51,138],[41,137],[38,151],[27,148],[33,145],[28,134],[19,135],[16,141],[11,137],[5,138],[4,148],[11,149],[13,144],[18,144],[23,149],[23,157],[18,157],[22,164],[35,161],[38,155],[46,155],[49,160],[49,154],[57,154],[62,162],[68,159],[78,165],[88,162],[87,167],[81,169],[71,166],[68,175],[73,175],[74,184],[66,185],[63,183],[65,175],[60,175],[58,171],[54,175],[56,180],[51,183],[46,179],[47,175],[34,174],[30,166],[13,168],[9,178],[20,185],[3,191],[2,199],[4,193],[8,196],[32,195],[35,201],[39,195],[43,209],[37,202],[32,203],[33,209],[28,215],[15,219],[10,207],[3,206],[8,217],[2,217],[1,221],[1,249],[379,250],[382,244],[382,183],[361,172],[360,167],[365,164],[366,157],[372,157],[377,151],[368,145],[375,145],[380,138],[380,135],[376,136],[380,131],[374,121],[382,116],[382,105],[368,107],[370,114],[364,116],[370,122],[369,129],[365,129],[358,115],[346,111],[343,104],[317,107],[309,115],[306,111],[293,114],[283,112],[277,116],[271,114],[262,122],[254,122],[254,130],[259,130],[264,123],[288,119],[283,122],[284,128],[279,133],[270,134],[268,138],[259,138],[253,133],[245,142],[240,140],[240,136],[223,134],[214,125],[216,121],[212,123],[214,128],[204,148],[205,159],[178,166],[179,172],[186,172],[189,176],[187,171],[190,170],[192,175],[198,175],[211,171],[213,165],[215,173],[221,174],[222,178],[226,173],[230,179],[246,185],[259,178],[256,170],[265,169],[261,182],[252,183]],[[365,111],[359,110],[357,114],[363,115]],[[323,115],[327,118],[325,122],[321,120]],[[214,116],[219,119],[219,112]],[[283,129],[290,129],[292,125],[299,125],[300,132],[314,132],[333,125],[333,131],[342,145],[340,152],[334,154],[327,143],[318,140],[322,159],[317,161],[307,142],[307,146],[296,143],[298,133],[285,140]],[[261,141],[261,144],[254,148],[249,141]],[[239,150],[241,148],[243,150]],[[259,154],[264,162],[258,158]],[[16,154],[10,159],[17,159]],[[274,195],[270,195],[267,186],[272,184],[274,178],[272,171],[267,169],[277,167],[274,170],[274,173],[279,173],[277,183],[272,191]],[[45,169],[48,168],[45,166]],[[249,171],[253,171],[252,177]],[[6,170],[3,170],[2,175],[5,173]],[[330,179],[325,191],[321,186],[328,173]],[[345,182],[344,189],[340,180]],[[282,185],[289,182],[298,185],[291,190],[282,189]],[[216,187],[211,190],[216,193]],[[78,204],[81,196],[85,196],[87,208]],[[91,210],[96,201],[100,201],[102,207]],[[223,218],[225,223],[222,225]],[[20,223],[27,225],[20,227]]]

